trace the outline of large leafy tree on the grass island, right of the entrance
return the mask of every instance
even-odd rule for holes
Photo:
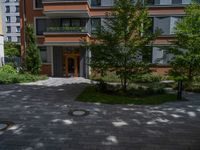
[[[104,75],[116,71],[124,91],[132,77],[147,71],[148,63],[138,59],[147,54],[159,32],[153,33],[147,9],[138,0],[116,1],[103,25],[97,27],[96,37],[89,43],[92,56],[90,65]]]

